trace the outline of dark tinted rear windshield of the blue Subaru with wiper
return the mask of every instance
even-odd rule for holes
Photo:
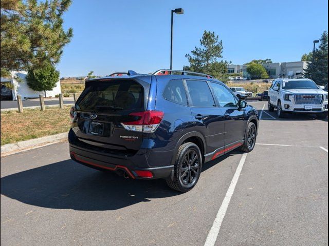
[[[117,111],[144,108],[144,89],[133,80],[93,81],[76,103],[77,110]]]

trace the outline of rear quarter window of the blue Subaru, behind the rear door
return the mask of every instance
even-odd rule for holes
[[[163,91],[163,97],[177,104],[187,105],[186,92],[181,79],[170,80]]]

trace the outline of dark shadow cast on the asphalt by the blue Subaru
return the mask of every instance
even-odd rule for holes
[[[203,171],[227,156],[206,163]],[[50,209],[104,211],[181,193],[171,190],[163,179],[124,179],[68,159],[2,177],[1,194]]]

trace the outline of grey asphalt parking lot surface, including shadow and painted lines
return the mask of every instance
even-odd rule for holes
[[[78,165],[67,142],[1,160],[2,245],[327,245],[328,122],[279,119],[204,165],[188,193]]]

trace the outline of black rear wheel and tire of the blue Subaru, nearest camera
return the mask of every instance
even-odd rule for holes
[[[194,160],[194,158],[196,159]],[[202,154],[199,147],[193,144],[193,142],[186,142],[179,147],[174,165],[173,177],[166,180],[167,184],[173,190],[188,192],[196,185],[201,170]],[[192,176],[193,179],[191,179]]]

